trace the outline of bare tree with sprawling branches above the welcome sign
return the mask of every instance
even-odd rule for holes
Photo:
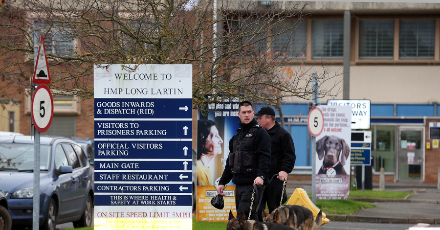
[[[297,23],[308,17],[308,2],[272,2],[6,1],[0,9],[0,75],[7,86],[28,87],[35,38],[42,34],[55,94],[92,98],[93,64],[192,64],[194,108],[238,97],[276,105],[282,115],[285,98],[311,98],[316,70],[306,69],[293,39]],[[277,42],[282,35],[284,42]],[[340,74],[319,68],[320,84]],[[337,84],[320,89],[320,96],[336,95]]]

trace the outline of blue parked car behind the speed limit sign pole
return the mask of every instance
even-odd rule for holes
[[[0,137],[0,188],[12,225],[32,226],[34,138]],[[40,229],[93,221],[93,170],[81,146],[69,138],[40,138]]]

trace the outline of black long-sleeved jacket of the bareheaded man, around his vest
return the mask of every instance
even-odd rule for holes
[[[270,163],[270,137],[264,128],[259,128],[254,132],[255,154],[258,158],[257,172],[233,174],[229,168],[229,157],[231,156],[231,153],[233,151],[235,140],[237,138],[239,140],[242,140],[246,136],[250,128],[253,125],[258,125],[258,123],[255,119],[253,119],[248,124],[243,124],[242,122],[240,122],[239,125],[241,126],[241,128],[237,130],[238,133],[229,140],[229,156],[228,160],[226,160],[226,165],[224,167],[223,174],[221,175],[219,184],[227,184],[231,181],[231,179],[234,184],[253,184],[257,176],[264,176],[264,184],[267,184],[268,179],[266,174],[269,170]]]

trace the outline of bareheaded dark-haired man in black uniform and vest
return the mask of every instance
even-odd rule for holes
[[[240,126],[237,133],[229,140],[229,156],[221,175],[217,192],[224,196],[225,184],[235,186],[235,205],[237,218],[243,211],[248,219],[254,184],[268,183],[267,171],[270,163],[270,137],[266,130],[254,118],[254,109],[248,101],[239,104]],[[259,193],[261,195],[261,193]],[[259,197],[254,196],[250,219],[258,221],[256,208]]]

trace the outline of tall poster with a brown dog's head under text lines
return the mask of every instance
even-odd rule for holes
[[[347,199],[350,193],[352,108],[320,105],[322,133],[316,137],[316,199]]]

